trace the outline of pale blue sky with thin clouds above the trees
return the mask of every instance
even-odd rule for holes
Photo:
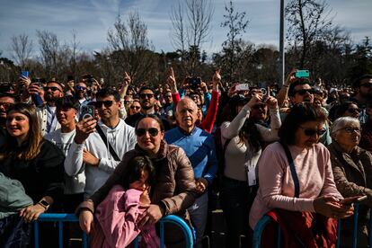
[[[107,31],[118,13],[127,19],[137,11],[146,22],[148,38],[156,51],[172,51],[171,0],[0,0],[0,51],[11,57],[11,37],[21,33],[30,36],[38,52],[36,30],[56,33],[62,42],[72,40],[74,30],[79,49],[93,51],[107,46]],[[226,29],[220,27],[227,0],[212,0],[214,16],[210,40],[202,49],[214,52],[226,40]],[[235,9],[245,11],[250,20],[244,40],[255,44],[279,45],[279,0],[234,1]],[[372,36],[372,0],[328,0],[335,15],[334,23],[350,31],[354,42]]]

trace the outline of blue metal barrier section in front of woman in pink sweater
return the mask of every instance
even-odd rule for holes
[[[370,215],[372,212],[370,212]],[[359,204],[354,203],[354,216],[353,216],[353,229],[352,229],[352,248],[356,248],[358,244],[358,217],[359,217]],[[257,223],[257,225],[254,227],[253,231],[253,248],[260,248],[261,246],[261,235],[263,230],[267,225],[272,223],[272,218],[268,216],[263,216],[261,217],[260,221]],[[337,226],[337,242],[336,242],[336,248],[340,247],[340,241],[341,241],[341,218],[339,218],[339,225]],[[372,229],[372,217],[369,217],[368,221],[368,231],[370,232]],[[277,247],[281,247],[281,230],[280,227],[278,226],[278,243]],[[368,245],[369,247],[372,247],[372,235],[369,233],[368,234]]]

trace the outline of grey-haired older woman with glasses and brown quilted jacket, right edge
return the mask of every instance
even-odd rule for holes
[[[359,147],[358,119],[341,117],[332,125],[332,170],[337,190],[343,197],[368,196],[359,205],[359,247],[368,246],[368,208],[372,207],[372,155]],[[341,244],[351,244],[352,218],[342,220]]]

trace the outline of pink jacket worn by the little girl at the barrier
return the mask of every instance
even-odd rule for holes
[[[91,236],[91,247],[127,247],[141,233],[140,247],[156,248],[160,241],[155,226],[137,226],[137,217],[146,208],[139,207],[140,190],[124,190],[120,185],[112,187],[109,195],[98,205],[97,222]]]

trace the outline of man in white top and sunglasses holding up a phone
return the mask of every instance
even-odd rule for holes
[[[111,88],[99,90],[95,108],[101,120],[97,122],[89,117],[76,125],[76,135],[66,156],[65,170],[68,175],[74,175],[85,163],[85,198],[106,182],[123,155],[137,143],[135,129],[119,117],[120,107],[117,91]]]

